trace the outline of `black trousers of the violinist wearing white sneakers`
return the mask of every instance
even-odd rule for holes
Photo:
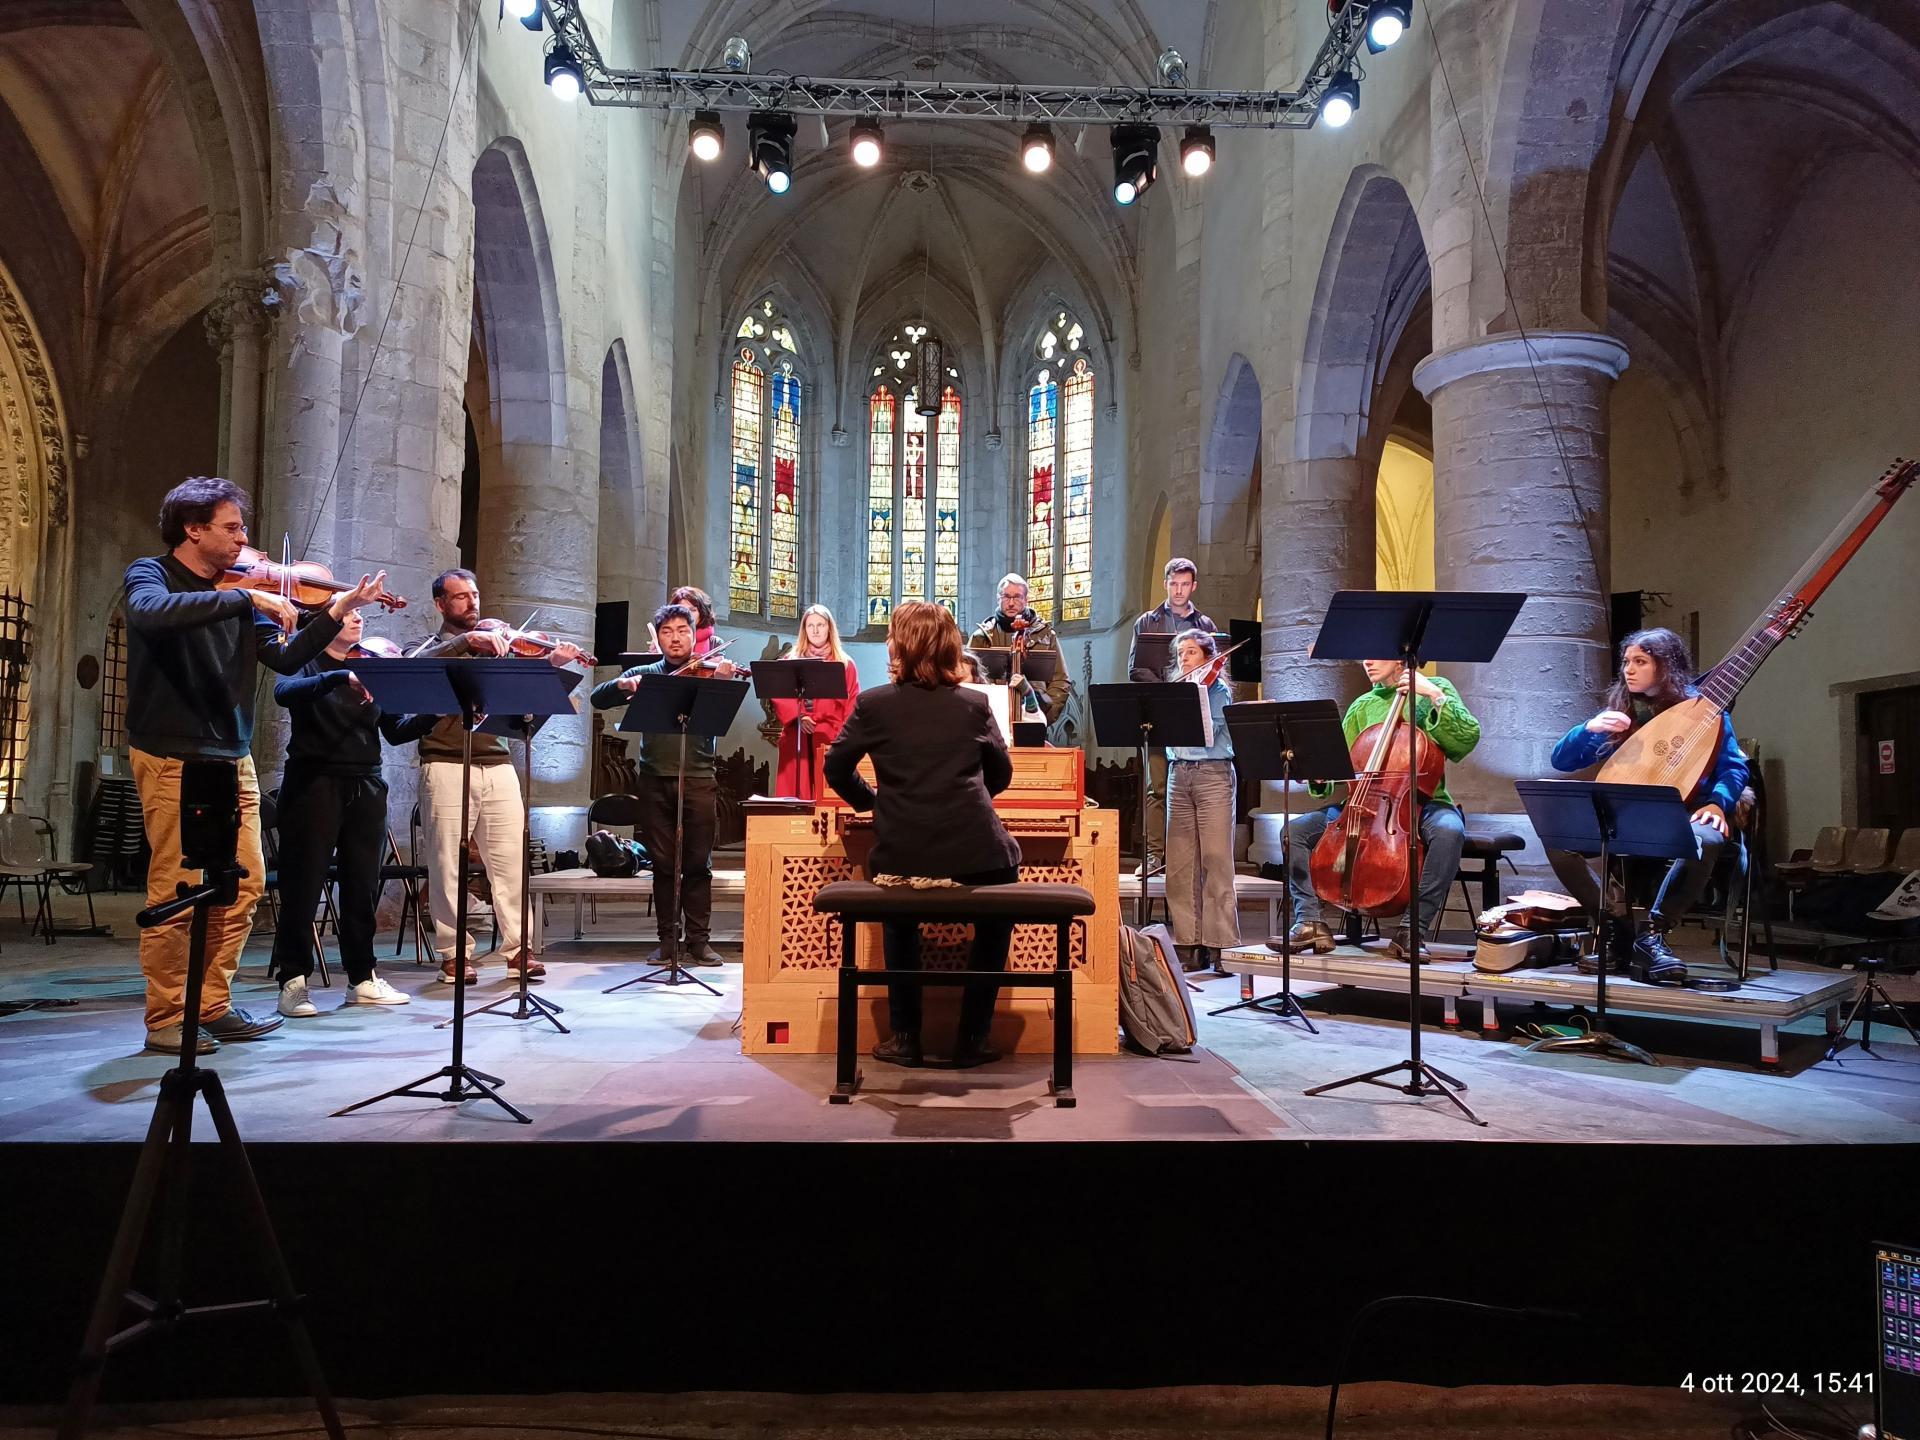
[[[323,776],[288,768],[280,781],[280,927],[273,977],[282,985],[313,973],[313,916],[326,866],[340,866],[340,966],[348,983],[372,979],[374,910],[380,904],[380,847],[386,843],[386,781],[380,776]]]

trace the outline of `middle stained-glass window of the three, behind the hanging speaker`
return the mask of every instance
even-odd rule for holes
[[[966,382],[947,367],[941,413],[914,411],[922,324],[904,324],[866,376],[866,624],[931,599],[960,614],[960,505],[966,492]],[[916,543],[918,541],[918,543]]]

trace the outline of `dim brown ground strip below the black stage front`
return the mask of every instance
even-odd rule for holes
[[[1851,1434],[1870,1419],[1859,1402],[1774,1404],[1772,1411],[1805,1440]],[[1705,1440],[1726,1436],[1743,1417],[1770,1434],[1757,1404],[1626,1386],[1469,1386],[1356,1384],[1340,1392],[1340,1436],[1450,1436],[1452,1440]],[[292,1402],[154,1407],[102,1413],[100,1440],[207,1440],[321,1434],[311,1407]],[[52,1415],[0,1411],[0,1440],[44,1436]],[[342,1402],[351,1434],[380,1440],[492,1440],[518,1436],[628,1436],[630,1440],[1033,1440],[1098,1436],[1246,1436],[1308,1440],[1325,1434],[1327,1392],[1281,1386],[1194,1386],[1129,1392],[929,1394],[929,1396],[541,1396],[409,1398]],[[1845,1428],[1837,1428],[1847,1421]],[[1818,1428],[1818,1427],[1834,1428]]]

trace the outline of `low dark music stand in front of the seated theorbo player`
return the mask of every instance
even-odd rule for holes
[[[1534,1041],[1528,1050],[1596,1050],[1613,1060],[1657,1066],[1651,1054],[1607,1031],[1607,883],[1615,860],[1680,860],[1699,852],[1693,810],[1672,785],[1609,785],[1599,780],[1519,780],[1526,818],[1549,851],[1599,856],[1599,908],[1594,912],[1594,1021],[1586,1035]],[[1624,885],[1622,885],[1624,889]]]

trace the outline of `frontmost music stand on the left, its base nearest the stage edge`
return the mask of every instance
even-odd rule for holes
[[[549,660],[440,657],[355,660],[353,674],[359,676],[374,703],[390,714],[457,714],[461,720],[461,843],[453,895],[453,1020],[449,1021],[453,1025],[453,1056],[434,1073],[355,1100],[346,1110],[336,1110],[334,1116],[351,1116],[355,1110],[399,1096],[451,1100],[453,1104],[486,1098],[518,1123],[532,1125],[532,1116],[515,1110],[499,1096],[497,1087],[505,1085],[499,1075],[488,1075],[467,1064],[467,947],[470,943],[467,935],[467,826],[472,803],[474,730],[488,714],[541,714],[541,707],[553,695],[559,672]],[[559,678],[564,682],[564,676]],[[526,943],[524,933],[520,943]],[[430,1089],[440,1079],[447,1087],[444,1091]]]

